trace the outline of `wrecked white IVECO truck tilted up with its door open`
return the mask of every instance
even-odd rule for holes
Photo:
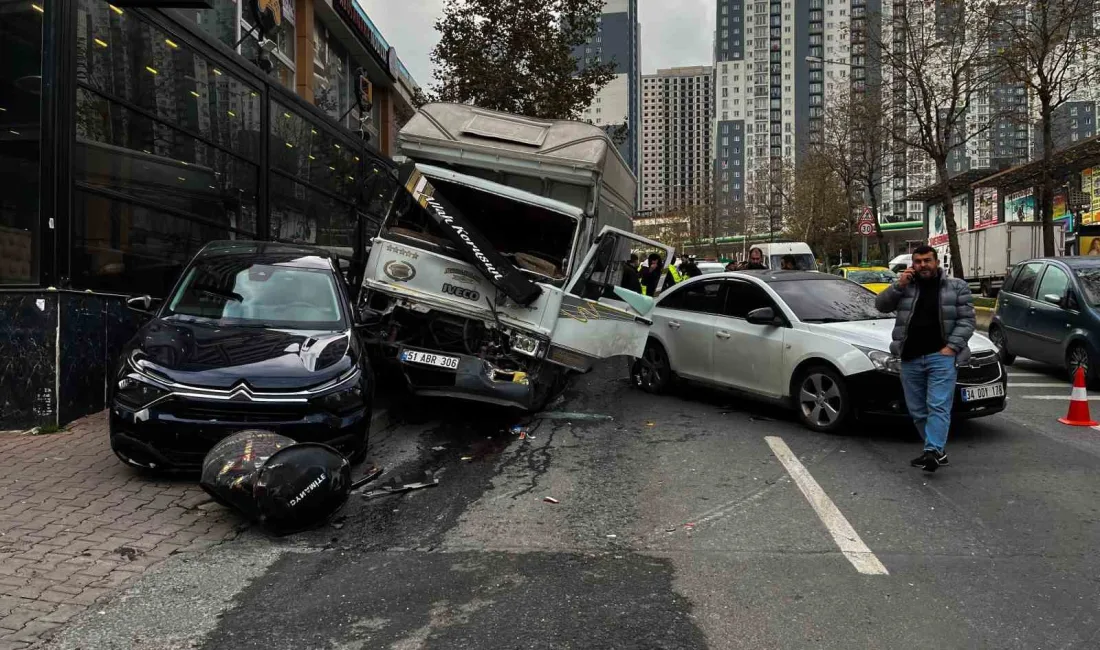
[[[432,103],[398,143],[360,320],[414,394],[537,410],[570,373],[641,355],[652,299],[624,274],[672,250],[629,232],[637,180],[602,129]]]

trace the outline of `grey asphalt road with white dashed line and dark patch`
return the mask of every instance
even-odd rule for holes
[[[421,403],[374,455],[382,481],[438,487],[169,562],[55,647],[1100,647],[1100,431],[1055,421],[1055,371],[1018,362],[1009,412],[956,427],[931,475],[905,423],[814,434],[623,371],[525,440],[508,414]]]

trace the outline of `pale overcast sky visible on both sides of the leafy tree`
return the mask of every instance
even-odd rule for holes
[[[431,82],[432,26],[443,0],[359,0],[375,26],[424,87]],[[711,65],[715,0],[638,0],[644,74],[674,66]]]

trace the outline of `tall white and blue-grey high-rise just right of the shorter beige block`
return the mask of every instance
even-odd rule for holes
[[[877,79],[867,34],[881,0],[718,0],[715,201],[752,233],[782,228],[785,184],[825,107]]]

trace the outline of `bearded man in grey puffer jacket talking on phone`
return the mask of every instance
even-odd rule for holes
[[[976,327],[966,280],[947,277],[932,246],[913,251],[913,266],[879,294],[879,311],[897,311],[890,352],[901,357],[905,406],[924,438],[924,452],[910,463],[926,472],[947,464],[958,365],[970,357]]]

